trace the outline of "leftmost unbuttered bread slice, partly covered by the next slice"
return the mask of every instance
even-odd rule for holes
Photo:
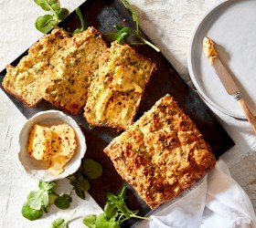
[[[34,107],[43,98],[39,92],[40,79],[48,70],[48,59],[65,46],[69,35],[62,29],[54,29],[43,36],[28,50],[28,55],[21,58],[16,67],[6,66],[3,87],[7,92],[21,99],[29,107]]]

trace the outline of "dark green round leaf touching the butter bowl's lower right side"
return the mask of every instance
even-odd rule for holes
[[[102,166],[99,162],[86,159],[83,161],[83,169],[85,175],[88,177],[89,180],[97,179],[102,174]]]

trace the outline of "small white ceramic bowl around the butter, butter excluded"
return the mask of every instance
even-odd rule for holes
[[[35,124],[41,124],[43,126],[57,125],[61,123],[69,124],[76,132],[77,149],[75,154],[69,163],[64,167],[64,171],[58,176],[54,176],[48,171],[46,164],[43,161],[37,161],[31,158],[27,153],[27,140],[29,132]],[[38,112],[31,119],[28,119],[19,134],[20,151],[18,154],[19,161],[24,169],[33,178],[37,178],[43,181],[55,181],[63,179],[80,168],[81,159],[86,152],[85,137],[80,130],[79,125],[74,119],[58,110],[48,110]]]

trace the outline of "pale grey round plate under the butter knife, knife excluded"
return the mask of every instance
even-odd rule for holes
[[[219,57],[256,115],[256,1],[225,0],[210,8],[192,32],[187,57],[190,77],[200,95],[229,116],[245,119],[203,53],[204,36],[216,43]]]

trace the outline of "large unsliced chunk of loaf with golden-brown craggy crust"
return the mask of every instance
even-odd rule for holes
[[[194,122],[170,95],[158,100],[104,152],[152,209],[203,178],[216,162]]]

